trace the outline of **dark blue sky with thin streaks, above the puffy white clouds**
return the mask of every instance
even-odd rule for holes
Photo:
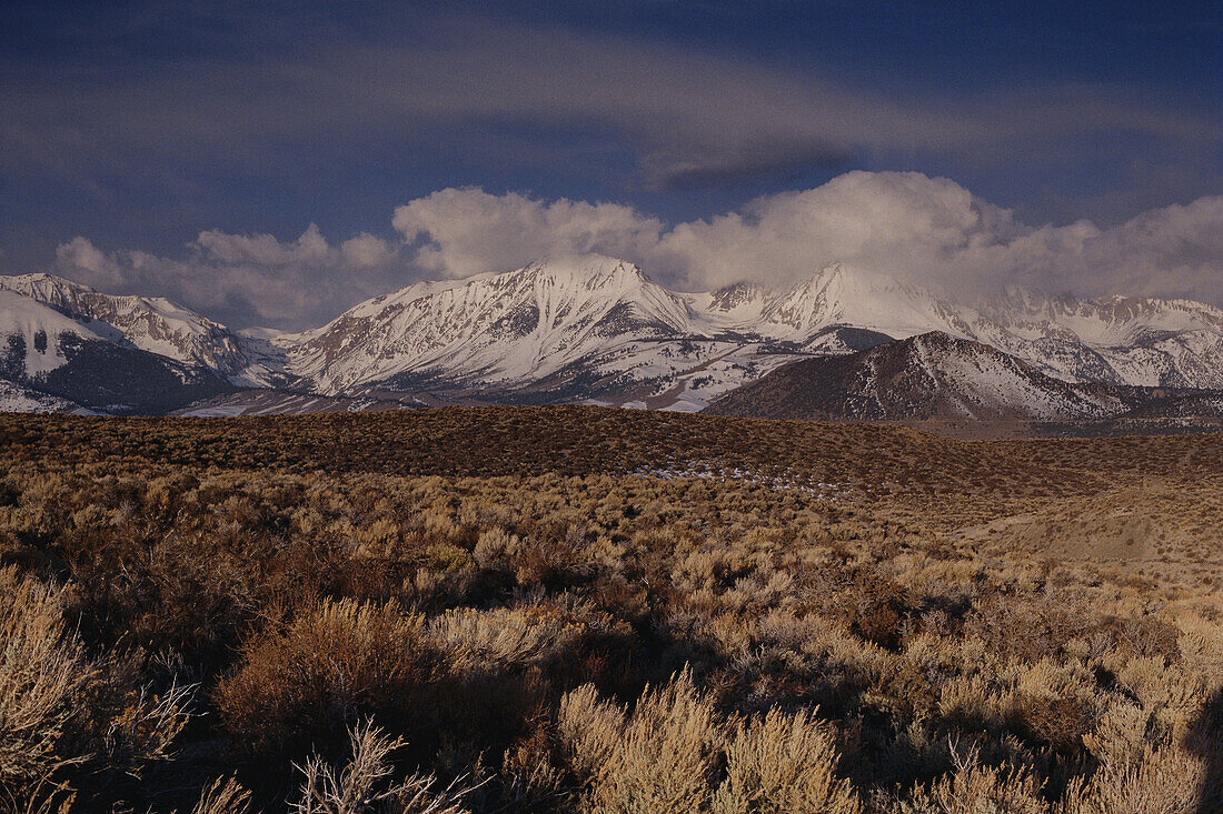
[[[1219,193],[1218,2],[22,2],[0,12],[0,271],[86,236],[391,237],[444,187],[665,222],[848,170],[1026,222]]]

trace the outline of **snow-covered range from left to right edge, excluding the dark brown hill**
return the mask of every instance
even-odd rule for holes
[[[619,258],[555,258],[418,282],[320,328],[281,335],[234,331],[166,299],[115,297],[49,275],[0,277],[0,295],[7,297],[0,339],[20,335],[24,348],[6,378],[35,387],[43,385],[34,378],[53,370],[51,378],[65,378],[57,337],[67,335],[78,337],[70,345],[138,351],[227,386],[352,405],[588,401],[701,409],[789,362],[938,331],[1064,383],[1223,390],[1223,310],[1211,306],[1021,291],[961,302],[840,264],[781,288],[739,284],[676,293]],[[79,362],[71,368],[81,369]]]

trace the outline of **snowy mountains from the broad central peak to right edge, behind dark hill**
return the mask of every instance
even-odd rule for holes
[[[1011,292],[959,303],[844,265],[783,290],[673,293],[615,258],[417,284],[278,340],[325,395],[588,398],[698,409],[779,364],[940,331],[1065,381],[1223,387],[1223,312],[1161,299]]]

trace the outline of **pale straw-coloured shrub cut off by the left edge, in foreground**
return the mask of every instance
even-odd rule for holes
[[[0,791],[40,783],[84,759],[61,754],[92,673],[64,628],[65,592],[0,570]]]

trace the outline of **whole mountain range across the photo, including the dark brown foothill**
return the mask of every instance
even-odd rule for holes
[[[1031,291],[953,302],[845,265],[781,288],[680,293],[626,260],[583,255],[418,282],[274,334],[51,275],[0,277],[4,409],[587,402],[756,414],[744,400],[772,381],[777,401],[781,380],[824,417],[1107,417],[1223,390],[1223,310]]]

